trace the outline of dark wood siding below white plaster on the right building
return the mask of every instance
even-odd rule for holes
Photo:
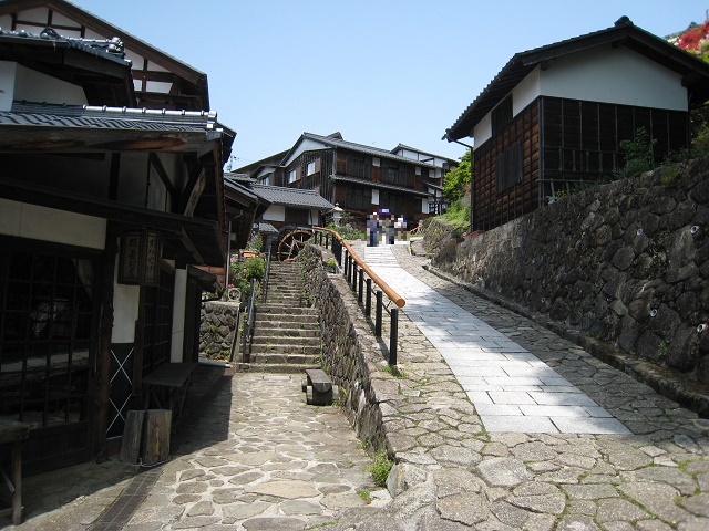
[[[654,157],[689,145],[688,114],[628,105],[541,97],[474,150],[473,230],[489,230],[605,179],[625,164],[620,143],[645,127],[656,140]],[[497,176],[523,149],[522,179]],[[502,164],[500,164],[502,162]],[[516,163],[515,163],[516,164]],[[502,185],[502,186],[501,186]]]

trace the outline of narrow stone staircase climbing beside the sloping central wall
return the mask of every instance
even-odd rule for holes
[[[317,368],[320,337],[318,311],[304,296],[300,264],[271,262],[267,300],[257,304],[249,362],[238,368],[274,373]]]

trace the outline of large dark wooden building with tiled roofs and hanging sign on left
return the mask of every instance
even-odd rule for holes
[[[0,27],[0,416],[30,425],[32,473],[115,451],[143,381],[197,361],[234,132],[206,77],[131,38],[136,73],[73,4],[3,1]]]

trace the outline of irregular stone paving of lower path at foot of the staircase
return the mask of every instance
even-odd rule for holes
[[[299,375],[237,373],[187,430],[124,530],[301,530],[377,490],[345,415],[307,406]]]

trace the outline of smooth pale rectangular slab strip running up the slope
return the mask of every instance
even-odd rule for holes
[[[402,312],[411,315],[412,322],[441,352],[476,406],[485,429],[588,434],[596,428],[600,434],[629,433],[618,420],[593,420],[579,406],[593,407],[598,417],[610,417],[610,414],[479,315],[449,301],[402,268],[392,266],[390,256],[395,247],[367,247],[364,260],[407,300]],[[482,382],[469,376],[479,376]],[[551,383],[569,391],[559,391]],[[504,418],[497,419],[499,416]]]

